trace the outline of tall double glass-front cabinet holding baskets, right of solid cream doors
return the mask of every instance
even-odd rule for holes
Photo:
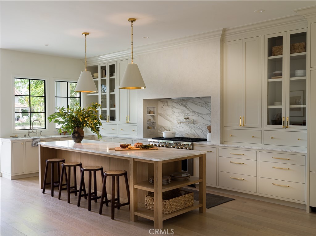
[[[306,129],[306,36],[265,36],[265,128]]]

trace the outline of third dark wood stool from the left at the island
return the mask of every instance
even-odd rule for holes
[[[97,196],[97,176],[96,172],[100,170],[101,172],[101,179],[103,177],[103,166],[85,166],[81,168],[81,179],[80,179],[80,187],[79,187],[79,196],[78,196],[78,204],[77,206],[80,206],[80,199],[81,197],[88,196],[88,210],[91,210],[91,201],[94,200],[94,202],[97,202],[97,199],[101,198],[101,196]],[[89,182],[88,182],[88,193],[82,194],[82,187],[84,185],[84,172],[89,172]],[[91,175],[93,172],[93,178],[94,178],[94,191],[91,193]]]

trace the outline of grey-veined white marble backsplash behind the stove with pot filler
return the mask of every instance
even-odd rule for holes
[[[193,119],[193,124],[177,124]],[[178,137],[206,138],[207,126],[211,124],[211,98],[179,98],[158,100],[158,135],[172,130]]]

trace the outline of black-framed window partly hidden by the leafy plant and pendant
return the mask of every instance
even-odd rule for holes
[[[81,93],[75,92],[77,82],[55,81],[55,107],[81,106]],[[56,110],[57,111],[57,110]],[[56,124],[56,128],[61,125]]]

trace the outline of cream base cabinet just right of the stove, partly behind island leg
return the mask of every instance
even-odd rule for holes
[[[194,145],[194,150],[206,152],[206,185],[217,185],[217,149]],[[198,176],[198,160],[194,159],[194,176]]]

